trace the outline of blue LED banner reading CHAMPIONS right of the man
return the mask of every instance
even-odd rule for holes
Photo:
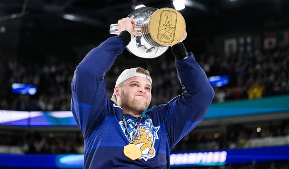
[[[289,146],[181,152],[170,155],[171,167],[223,166],[233,164],[286,161]]]

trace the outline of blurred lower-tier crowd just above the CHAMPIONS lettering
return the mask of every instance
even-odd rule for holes
[[[219,150],[289,144],[289,121],[271,127],[228,126],[217,131],[193,130],[173,151]],[[257,142],[255,142],[255,140]]]

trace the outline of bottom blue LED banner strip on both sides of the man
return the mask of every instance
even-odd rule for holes
[[[0,154],[0,168],[82,169],[83,154],[75,155],[11,155]],[[287,161],[289,146],[193,151],[171,153],[170,166],[223,166]]]

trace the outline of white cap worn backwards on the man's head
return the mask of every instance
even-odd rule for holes
[[[139,76],[139,77],[144,77],[146,79],[149,80],[150,84],[152,83],[152,80],[150,78],[149,75],[143,74],[143,73],[139,73],[137,72],[137,69],[139,67],[135,67],[135,68],[131,68],[131,69],[125,69],[117,78],[115,86],[120,85],[122,82],[124,82],[125,80],[131,78],[131,77],[135,77],[135,76]],[[116,103],[116,95],[113,92],[112,101],[114,101]]]

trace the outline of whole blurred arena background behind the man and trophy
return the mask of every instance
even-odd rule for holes
[[[0,168],[82,168],[73,71],[141,4],[179,10],[186,49],[215,91],[171,167],[288,169],[289,0],[0,0]],[[153,59],[125,50],[105,76],[108,98],[136,66],[151,73],[150,108],[181,93],[170,50]]]

